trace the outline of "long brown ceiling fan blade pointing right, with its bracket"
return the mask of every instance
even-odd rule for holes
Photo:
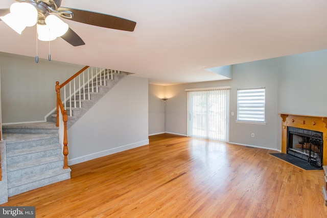
[[[133,32],[136,26],[136,22],[121,17],[116,17],[108,14],[102,14],[91,11],[84,11],[74,8],[63,8],[60,7],[58,11],[71,11],[74,13],[72,20],[77,22],[86,23],[93,26],[125,30]],[[67,18],[62,16],[63,18]],[[68,19],[68,18],[67,18]]]

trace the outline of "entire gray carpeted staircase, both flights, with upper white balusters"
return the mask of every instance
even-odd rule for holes
[[[126,72],[100,73],[82,87],[74,87],[73,94],[69,92],[69,97],[64,97],[67,129],[126,75]],[[46,122],[3,125],[9,197],[71,178],[71,169],[63,168],[62,142],[56,122],[57,111],[53,110]]]

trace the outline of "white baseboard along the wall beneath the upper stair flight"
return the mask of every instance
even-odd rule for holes
[[[85,155],[85,156],[82,156],[82,157],[77,157],[77,158],[68,160],[68,165],[74,165],[74,164],[77,164],[77,163],[82,163],[82,162],[85,162],[85,161],[88,161],[88,160],[93,160],[93,159],[96,159],[96,158],[99,158],[99,157],[104,157],[104,156],[115,154],[115,153],[118,153],[118,152],[123,152],[123,151],[127,151],[127,150],[130,150],[130,149],[135,149],[137,147],[146,146],[147,144],[149,144],[149,139],[144,140],[144,141],[138,141],[138,142],[131,143],[131,144],[126,144],[125,146],[112,148],[112,149],[108,149],[108,150],[105,150],[105,151]]]

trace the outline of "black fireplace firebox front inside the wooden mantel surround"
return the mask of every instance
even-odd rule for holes
[[[322,165],[322,132],[288,127],[287,153],[309,163]]]

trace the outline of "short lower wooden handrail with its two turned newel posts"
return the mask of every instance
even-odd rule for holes
[[[67,111],[64,110],[62,102],[61,102],[61,97],[60,97],[60,86],[59,86],[59,82],[56,82],[56,92],[57,92],[57,127],[59,126],[59,109],[60,112],[62,114],[62,121],[63,121],[63,156],[64,156],[64,160],[63,160],[63,168],[67,169],[68,167],[68,140],[67,140],[67,120],[68,120],[68,116],[67,116]]]

